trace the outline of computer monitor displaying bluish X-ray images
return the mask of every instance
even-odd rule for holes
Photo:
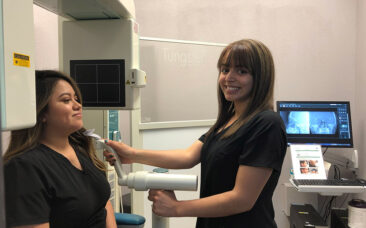
[[[277,101],[290,144],[353,147],[348,101]]]

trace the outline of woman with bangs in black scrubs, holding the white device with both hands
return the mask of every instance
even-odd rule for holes
[[[272,55],[259,41],[239,40],[222,51],[217,67],[217,121],[190,147],[151,151],[108,144],[122,162],[169,169],[201,163],[200,199],[178,201],[173,192],[150,190],[158,215],[198,217],[198,228],[277,227],[272,196],[287,142],[283,122],[273,111]],[[113,163],[111,154],[104,154]]]

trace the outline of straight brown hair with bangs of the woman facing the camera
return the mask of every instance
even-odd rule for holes
[[[222,138],[229,137],[253,116],[261,111],[273,110],[273,89],[275,68],[270,50],[260,41],[243,39],[235,41],[224,48],[217,62],[220,72],[222,66],[240,66],[246,68],[253,76],[253,89],[249,95],[249,104],[244,112]],[[218,117],[206,136],[223,127],[235,113],[234,104],[225,99],[218,86]],[[207,137],[206,137],[207,138]]]

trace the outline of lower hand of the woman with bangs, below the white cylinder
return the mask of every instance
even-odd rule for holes
[[[149,190],[148,199],[153,202],[152,211],[164,217],[177,217],[178,201],[173,191]]]

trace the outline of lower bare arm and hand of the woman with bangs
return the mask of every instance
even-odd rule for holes
[[[168,217],[223,217],[252,209],[272,174],[271,168],[240,165],[232,190],[209,197],[177,201],[171,191],[150,190],[153,212]]]

